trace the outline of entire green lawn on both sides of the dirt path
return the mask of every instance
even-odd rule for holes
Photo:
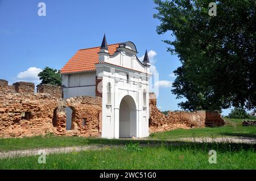
[[[50,154],[46,157],[46,164],[39,164],[36,156],[0,159],[0,169],[256,169],[256,144],[180,141],[180,138],[187,137],[256,138],[256,127],[242,127],[242,120],[227,121],[228,124],[224,127],[177,129],[154,133],[144,140],[107,140],[52,135],[2,138],[0,151],[84,145],[120,146],[68,154]],[[209,150],[217,151],[216,164],[208,162]]]

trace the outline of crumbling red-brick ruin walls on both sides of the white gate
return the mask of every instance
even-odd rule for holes
[[[16,82],[12,86],[0,79],[0,137],[36,136],[52,133],[65,136],[100,137],[102,98],[75,96],[64,100],[62,87]],[[65,108],[72,110],[72,127],[66,129]],[[169,112],[167,116],[156,108],[150,94],[150,132],[177,128],[221,126],[225,121],[218,112]]]

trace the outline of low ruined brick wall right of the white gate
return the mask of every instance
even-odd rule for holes
[[[218,111],[169,111],[164,115],[156,107],[156,96],[150,93],[150,132],[171,131],[178,128],[216,127],[226,124]]]

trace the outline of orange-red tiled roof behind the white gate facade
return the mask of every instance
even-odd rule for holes
[[[119,44],[108,45],[109,54],[111,55],[116,52],[118,47]],[[67,64],[64,65],[60,72],[65,74],[96,70],[95,64],[98,64],[98,52],[100,52],[100,47],[78,50]]]

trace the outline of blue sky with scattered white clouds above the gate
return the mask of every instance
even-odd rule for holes
[[[39,2],[46,3],[46,16],[38,15]],[[40,69],[61,69],[78,49],[100,46],[106,33],[108,44],[133,41],[138,57],[147,48],[159,73],[158,107],[180,110],[170,88],[180,62],[162,41],[173,39],[171,33],[156,33],[154,7],[151,0],[0,0],[0,79],[37,83]]]

